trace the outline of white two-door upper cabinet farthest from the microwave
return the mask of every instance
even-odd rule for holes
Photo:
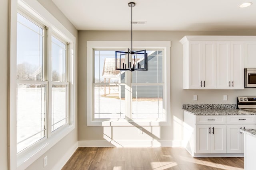
[[[216,88],[216,42],[189,41],[183,51],[187,55],[184,56],[183,88]]]

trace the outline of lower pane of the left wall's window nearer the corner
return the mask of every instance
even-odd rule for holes
[[[52,131],[68,123],[67,85],[52,85]]]

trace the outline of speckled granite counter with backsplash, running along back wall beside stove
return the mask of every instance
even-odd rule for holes
[[[193,115],[256,115],[256,111],[236,109],[235,104],[183,104],[182,109]]]

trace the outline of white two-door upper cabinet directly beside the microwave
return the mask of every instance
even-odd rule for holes
[[[244,41],[216,42],[217,89],[244,89]]]

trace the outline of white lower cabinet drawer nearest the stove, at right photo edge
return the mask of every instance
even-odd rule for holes
[[[227,124],[255,124],[256,115],[227,115]]]

